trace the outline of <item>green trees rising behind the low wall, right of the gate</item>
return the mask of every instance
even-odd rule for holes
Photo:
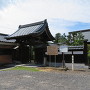
[[[83,45],[83,41],[84,41],[84,36],[82,35],[81,32],[71,32],[67,36],[65,35],[65,33],[63,35],[57,33],[55,35],[54,43],[56,44],[64,43],[71,46],[78,46],[78,45]]]

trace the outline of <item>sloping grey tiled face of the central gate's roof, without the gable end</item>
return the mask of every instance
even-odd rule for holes
[[[7,38],[17,38],[26,35],[33,35],[43,32],[46,20],[32,24],[20,25],[18,30]]]

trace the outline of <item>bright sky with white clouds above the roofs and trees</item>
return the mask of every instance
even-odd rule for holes
[[[44,19],[53,36],[90,29],[90,0],[0,0],[0,33]]]

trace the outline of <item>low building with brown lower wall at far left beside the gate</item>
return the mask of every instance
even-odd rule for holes
[[[0,65],[12,63],[13,48],[17,46],[15,40],[6,40],[7,36],[0,33]]]

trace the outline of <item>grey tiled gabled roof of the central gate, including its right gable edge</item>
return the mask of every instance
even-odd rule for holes
[[[54,39],[54,37],[51,35],[49,31],[47,20],[26,25],[20,25],[18,30],[15,33],[8,36],[7,39],[17,39],[26,36],[37,37],[40,36],[43,32],[46,32],[46,35],[49,38],[49,40]]]

